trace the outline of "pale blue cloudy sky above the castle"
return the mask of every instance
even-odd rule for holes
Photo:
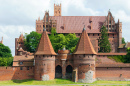
[[[15,38],[35,31],[36,19],[42,19],[46,10],[52,16],[54,3],[62,4],[62,16],[107,16],[110,9],[123,24],[125,41],[130,41],[130,0],[0,0],[0,37],[13,56]]]

